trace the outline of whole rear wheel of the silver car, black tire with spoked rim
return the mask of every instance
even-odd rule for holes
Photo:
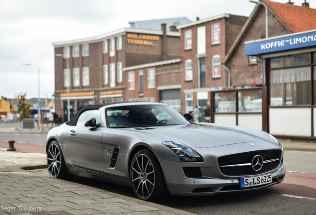
[[[57,141],[52,141],[48,146],[47,169],[52,178],[67,180],[74,177],[68,172],[62,149]]]

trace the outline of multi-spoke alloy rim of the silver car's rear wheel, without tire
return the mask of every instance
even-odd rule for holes
[[[49,174],[56,178],[58,176],[58,173],[60,171],[60,151],[58,146],[53,143],[49,146],[48,152],[47,152],[47,168],[49,171]]]

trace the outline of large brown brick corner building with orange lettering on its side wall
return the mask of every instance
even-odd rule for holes
[[[54,42],[57,114],[67,120],[68,108],[74,114],[88,104],[127,101],[123,68],[179,58],[179,37],[175,26],[167,31],[162,24],[161,30],[122,28]]]

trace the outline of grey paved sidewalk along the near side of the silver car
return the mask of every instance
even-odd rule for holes
[[[105,190],[50,178],[46,155],[0,150],[0,215],[192,215]],[[23,168],[23,169],[21,169]]]

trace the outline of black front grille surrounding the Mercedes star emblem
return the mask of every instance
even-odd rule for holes
[[[264,161],[278,158],[279,160],[264,163],[259,171],[254,171],[252,166],[237,166],[237,167],[221,167],[226,165],[246,164],[251,163],[255,155],[261,155]],[[233,155],[226,155],[218,158],[220,169],[227,176],[242,176],[242,175],[257,175],[260,173],[269,172],[280,165],[282,151],[281,150],[265,150],[244,152]]]

